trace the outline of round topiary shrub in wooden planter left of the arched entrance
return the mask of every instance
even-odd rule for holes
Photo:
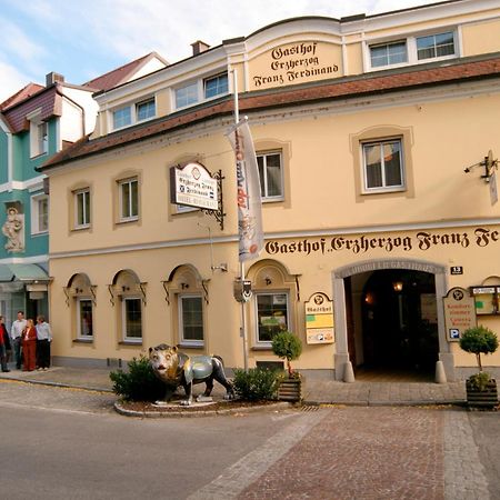
[[[286,401],[302,399],[302,380],[300,373],[293,371],[291,361],[302,353],[302,342],[289,331],[277,333],[272,339],[272,352],[287,361],[287,376],[282,378],[278,388],[278,398]]]

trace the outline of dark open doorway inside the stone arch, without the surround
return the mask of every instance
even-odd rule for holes
[[[349,293],[353,320],[348,341],[357,376],[432,377],[439,353],[434,276],[391,269],[356,278],[359,293]],[[346,291],[351,288],[349,281]]]

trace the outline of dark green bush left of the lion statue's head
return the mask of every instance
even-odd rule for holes
[[[112,371],[113,392],[126,401],[157,401],[166,394],[164,383],[154,374],[149,359],[141,354],[129,361],[129,371]]]

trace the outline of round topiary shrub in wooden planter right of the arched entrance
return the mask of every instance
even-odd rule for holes
[[[460,338],[460,348],[476,354],[479,372],[466,381],[467,402],[474,407],[498,404],[497,381],[482,371],[481,354],[490,354],[498,349],[498,338],[489,328],[474,327],[466,330]]]

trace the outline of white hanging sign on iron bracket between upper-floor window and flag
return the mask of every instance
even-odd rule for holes
[[[170,201],[188,207],[219,210],[217,179],[200,163],[170,168]]]

